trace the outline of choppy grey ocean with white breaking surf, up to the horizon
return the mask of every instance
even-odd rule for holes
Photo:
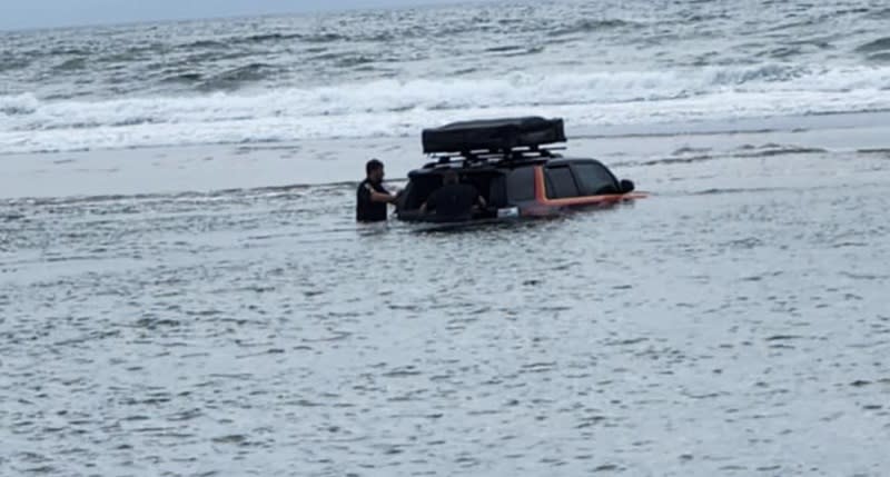
[[[0,33],[0,151],[890,109],[884,1],[495,2]]]

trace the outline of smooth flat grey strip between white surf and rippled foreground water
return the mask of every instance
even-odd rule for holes
[[[890,113],[567,128],[566,156],[634,167],[684,151],[732,155],[765,145],[829,152],[890,150]],[[0,156],[0,199],[211,192],[357,182],[369,158],[387,180],[429,160],[419,138],[325,139]],[[621,173],[616,170],[616,173]]]

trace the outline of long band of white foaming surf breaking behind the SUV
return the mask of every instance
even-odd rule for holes
[[[673,71],[378,80],[248,93],[248,64],[188,97],[40,100],[0,97],[0,150],[29,152],[195,143],[414,136],[459,119],[544,115],[571,126],[650,125],[890,109],[890,67],[763,64]],[[222,89],[220,91],[220,89]]]

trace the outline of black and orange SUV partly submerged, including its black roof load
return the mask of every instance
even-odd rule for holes
[[[474,220],[540,217],[565,209],[613,205],[645,197],[630,180],[619,181],[597,160],[564,158],[542,146],[565,142],[562,119],[537,117],[455,122],[423,132],[424,152],[436,159],[408,173],[397,217],[407,221],[451,221],[421,206],[454,170],[476,187],[487,207]],[[464,220],[464,219],[461,219]]]

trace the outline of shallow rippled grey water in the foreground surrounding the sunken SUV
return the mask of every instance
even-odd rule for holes
[[[0,202],[0,474],[886,475],[888,152],[616,169],[657,193],[456,233]]]

